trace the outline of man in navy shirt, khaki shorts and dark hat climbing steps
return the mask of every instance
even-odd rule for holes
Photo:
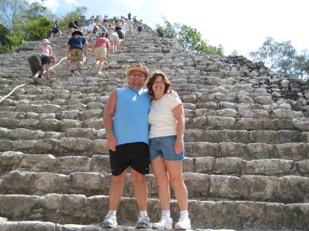
[[[71,75],[74,76],[74,65],[76,62],[78,62],[78,72],[82,73],[82,60],[84,56],[87,56],[88,42],[86,38],[82,36],[82,32],[75,31],[72,33],[72,36],[69,42],[67,42],[67,60],[71,61],[70,70]]]

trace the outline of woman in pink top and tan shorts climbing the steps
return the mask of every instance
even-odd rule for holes
[[[106,53],[107,49],[107,53]],[[109,45],[109,41],[106,38],[106,33],[103,32],[101,37],[95,40],[95,43],[92,47],[91,56],[95,55],[95,67],[94,70],[98,74],[102,74],[102,68],[104,65],[104,60],[108,58],[109,53],[111,52],[111,46]]]

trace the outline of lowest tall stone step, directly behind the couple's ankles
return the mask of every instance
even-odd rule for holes
[[[171,217],[179,218],[176,201],[170,203]],[[108,210],[108,197],[47,194],[42,196],[0,195],[1,217],[9,221],[48,221],[90,225],[102,222]],[[159,201],[148,199],[150,222],[161,217]],[[157,209],[153,209],[157,208]],[[236,230],[306,230],[309,204],[268,202],[189,201],[192,229],[232,228]],[[205,219],[205,217],[207,219]],[[135,199],[123,197],[117,210],[120,226],[136,222]]]

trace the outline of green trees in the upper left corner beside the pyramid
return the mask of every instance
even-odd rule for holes
[[[67,29],[69,19],[78,19],[86,11],[86,7],[78,7],[62,16],[58,19],[60,29]],[[9,52],[25,41],[48,38],[54,19],[56,15],[43,5],[43,1],[0,0],[0,53]]]

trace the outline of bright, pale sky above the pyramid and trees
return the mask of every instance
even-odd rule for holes
[[[38,1],[38,0],[31,0]],[[105,14],[137,19],[155,25],[181,23],[195,28],[211,46],[222,45],[225,56],[238,51],[249,58],[267,37],[291,41],[297,52],[309,50],[308,0],[45,0],[45,6],[62,16],[86,6],[86,19]]]

